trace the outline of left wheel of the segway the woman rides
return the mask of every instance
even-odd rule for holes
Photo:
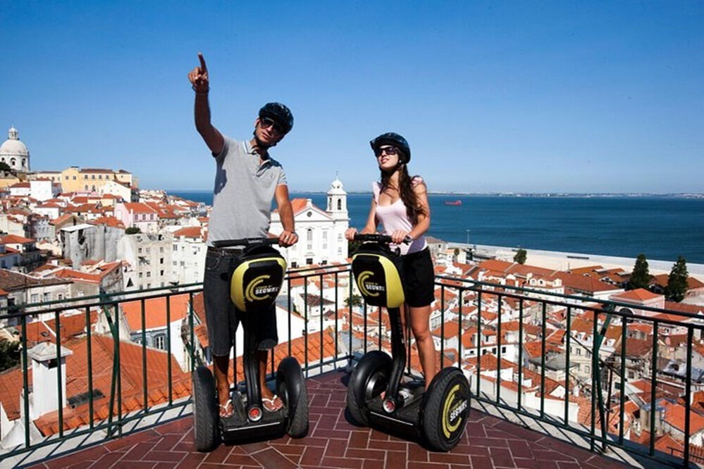
[[[383,351],[375,350],[362,357],[347,383],[347,410],[355,422],[369,425],[367,402],[388,386],[393,361]]]

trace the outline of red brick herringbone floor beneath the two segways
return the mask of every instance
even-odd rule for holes
[[[303,439],[221,445],[209,454],[193,446],[192,418],[185,417],[32,468],[616,468],[621,463],[564,444],[539,432],[472,410],[467,432],[449,453],[345,419],[342,372],[307,381],[310,432]]]

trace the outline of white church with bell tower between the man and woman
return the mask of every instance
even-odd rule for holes
[[[328,190],[328,207],[322,210],[311,199],[293,199],[293,218],[296,224],[298,242],[287,249],[280,249],[289,268],[305,265],[325,265],[345,262],[347,239],[345,231],[350,226],[347,215],[347,192],[342,182],[335,179]],[[278,236],[283,226],[278,211],[271,213],[269,232]]]

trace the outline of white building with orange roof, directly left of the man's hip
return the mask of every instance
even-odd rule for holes
[[[171,282],[189,284],[203,281],[207,232],[204,227],[192,226],[173,233]]]

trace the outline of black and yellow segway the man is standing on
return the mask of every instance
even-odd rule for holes
[[[221,418],[218,413],[215,379],[211,370],[198,366],[193,372],[193,423],[198,451],[210,451],[220,439],[266,439],[288,433],[301,438],[308,433],[308,395],[298,361],[284,358],[276,371],[276,394],[283,407],[276,412],[264,412],[259,387],[257,341],[254,337],[253,316],[271,307],[281,288],[286,261],[272,244],[278,239],[248,238],[218,241],[216,247],[245,246],[242,258],[230,280],[230,298],[243,311],[245,337],[243,356],[245,395],[235,383],[232,402],[234,413]],[[236,378],[235,378],[236,380]]]

